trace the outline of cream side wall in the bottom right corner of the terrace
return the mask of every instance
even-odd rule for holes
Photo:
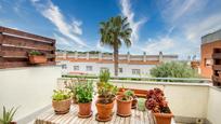
[[[209,120],[212,124],[221,123],[221,89],[220,88],[217,88],[217,87],[209,88],[207,120]]]

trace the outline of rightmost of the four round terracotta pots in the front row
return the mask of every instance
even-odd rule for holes
[[[131,115],[132,97],[130,100],[121,100],[122,96],[117,96],[117,114],[120,116]]]

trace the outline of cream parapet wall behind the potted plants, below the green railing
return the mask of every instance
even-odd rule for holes
[[[64,80],[69,79],[58,79],[58,87],[64,87]],[[202,119],[203,121],[207,119],[207,106],[210,106],[208,105],[208,97],[209,89],[211,88],[208,83],[170,83],[123,80],[113,80],[112,82],[118,87],[125,86],[127,88],[138,89],[159,87],[164,89],[170,109],[176,115],[176,121],[195,123],[197,119]],[[214,116],[217,118],[218,114]]]

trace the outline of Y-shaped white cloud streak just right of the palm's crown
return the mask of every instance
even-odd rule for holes
[[[120,0],[121,13],[123,16],[128,17],[128,22],[130,23],[130,27],[132,28],[131,40],[132,42],[139,40],[139,30],[141,26],[146,22],[145,18],[134,20],[134,13],[131,11],[130,0]]]

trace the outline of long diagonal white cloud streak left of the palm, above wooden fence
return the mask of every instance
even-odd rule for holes
[[[50,0],[48,0],[47,3],[41,3],[40,0],[31,0],[31,2],[37,10],[57,28],[60,33],[72,39],[72,41],[79,45],[87,46],[79,37],[82,35],[80,28],[82,23],[80,23],[80,20],[73,19],[72,23],[67,23],[58,6],[54,5]]]

